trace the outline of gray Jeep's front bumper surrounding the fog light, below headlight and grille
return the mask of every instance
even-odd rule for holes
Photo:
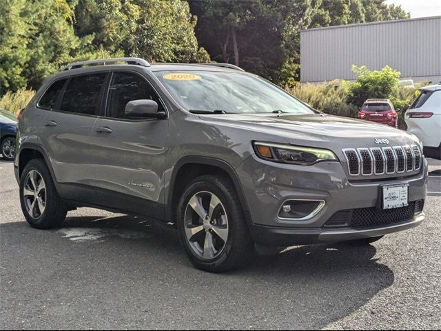
[[[424,214],[402,219],[393,225],[355,230],[328,228],[334,214],[342,210],[379,208],[382,185],[407,183],[409,203],[424,201],[427,195],[427,161],[420,172],[411,176],[349,181],[338,162],[322,162],[311,166],[287,165],[247,158],[237,169],[247,200],[249,228],[256,243],[298,245],[329,241],[346,241],[406,230],[420,224]],[[396,174],[400,176],[400,174]],[[279,217],[279,210],[289,199],[325,201],[319,212],[307,219]],[[421,210],[422,211],[422,210]],[[419,211],[418,211],[419,212]]]

